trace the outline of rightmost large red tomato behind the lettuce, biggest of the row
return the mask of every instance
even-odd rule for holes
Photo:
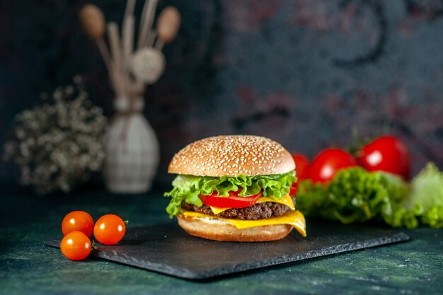
[[[383,136],[363,146],[357,161],[369,171],[382,170],[410,178],[410,153],[403,141],[393,136]]]

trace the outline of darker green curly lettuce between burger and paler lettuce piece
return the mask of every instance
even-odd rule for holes
[[[340,170],[326,187],[302,181],[297,208],[307,216],[334,219],[343,224],[363,222],[389,212],[390,195],[401,198],[407,191],[408,185],[395,175],[348,168]]]

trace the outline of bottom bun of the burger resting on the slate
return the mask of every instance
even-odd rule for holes
[[[200,238],[224,242],[265,242],[280,240],[293,229],[289,224],[256,226],[237,229],[221,219],[208,219],[190,216],[177,216],[178,225],[187,233]]]

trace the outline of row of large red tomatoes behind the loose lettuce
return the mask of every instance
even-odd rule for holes
[[[313,183],[328,183],[338,170],[362,166],[368,171],[385,171],[410,178],[410,153],[408,147],[391,135],[378,137],[362,146],[356,156],[343,149],[324,149],[310,163],[302,154],[293,154],[299,180],[310,179]],[[294,185],[297,190],[297,185]]]

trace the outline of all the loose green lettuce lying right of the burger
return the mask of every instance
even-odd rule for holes
[[[349,224],[369,219],[414,229],[443,227],[443,173],[433,163],[410,183],[396,175],[362,168],[341,170],[328,185],[299,183],[297,209]]]

